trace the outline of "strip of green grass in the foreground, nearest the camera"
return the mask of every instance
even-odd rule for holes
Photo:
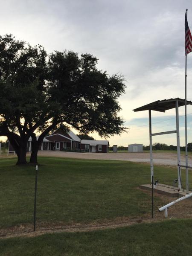
[[[1,256],[191,256],[192,220],[0,240]]]

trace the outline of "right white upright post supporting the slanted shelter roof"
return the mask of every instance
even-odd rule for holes
[[[177,129],[177,175],[178,175],[178,189],[181,190],[181,171],[180,171],[180,138],[179,138],[179,104],[176,101],[176,129]]]

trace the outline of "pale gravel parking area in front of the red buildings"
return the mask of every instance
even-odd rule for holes
[[[122,160],[131,162],[150,163],[150,153],[76,153],[62,151],[39,151],[39,156],[49,157],[69,157],[80,159],[100,159],[100,160]],[[153,154],[154,164],[177,166],[177,154],[155,153]],[[192,166],[192,156],[189,156],[189,165]],[[181,164],[185,164],[185,156],[181,155]]]

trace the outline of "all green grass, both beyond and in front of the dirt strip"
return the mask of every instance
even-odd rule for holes
[[[0,227],[32,224],[35,168],[0,160]],[[148,164],[111,160],[39,157],[37,226],[41,223],[90,224],[149,214],[151,197],[137,189],[150,182]],[[155,166],[155,178],[171,184],[177,168]],[[184,179],[184,177],[183,177]],[[190,174],[189,180],[192,180]],[[192,183],[190,183],[192,187]],[[155,209],[163,205],[154,198]],[[192,220],[91,232],[52,233],[0,239],[2,256],[177,256],[191,255]]]

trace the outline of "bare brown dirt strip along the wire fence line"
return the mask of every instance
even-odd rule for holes
[[[139,189],[139,188],[138,188]],[[142,190],[143,191],[143,190]],[[143,191],[144,193],[150,194],[148,191]],[[154,197],[159,197],[164,204],[175,200],[165,195],[160,195],[154,192]],[[20,226],[11,227],[8,229],[0,230],[0,239],[12,238],[12,237],[34,237],[40,236],[46,233],[59,233],[59,232],[87,232],[93,230],[104,230],[108,228],[117,228],[117,227],[128,227],[133,224],[140,223],[152,223],[159,222],[165,219],[164,212],[159,212],[158,207],[163,205],[155,205],[154,218],[151,218],[151,214],[145,214],[141,217],[129,218],[129,217],[118,217],[112,220],[98,220],[88,224],[84,223],[71,223],[66,224],[63,222],[39,222],[36,226],[36,231],[33,231],[32,224],[23,224]],[[168,219],[173,218],[192,218],[192,199],[183,200],[168,209]]]

